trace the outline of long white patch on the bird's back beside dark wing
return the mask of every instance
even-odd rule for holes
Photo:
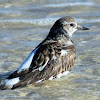
[[[27,70],[32,62],[32,59],[36,53],[38,48],[36,48],[27,58],[26,60],[23,62],[23,64],[18,68],[17,73],[20,73],[22,70]]]

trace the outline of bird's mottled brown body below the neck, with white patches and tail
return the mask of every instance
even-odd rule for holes
[[[55,41],[40,44],[30,53],[18,70],[3,82],[2,88],[15,89],[28,84],[59,78],[62,73],[66,74],[66,71],[71,70],[75,59],[73,50],[74,45],[62,47],[59,42]]]

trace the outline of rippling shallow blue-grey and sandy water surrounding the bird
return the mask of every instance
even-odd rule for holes
[[[100,0],[0,0],[0,81],[66,15],[90,28],[73,35],[77,59],[71,73],[60,80],[0,91],[0,100],[100,100]]]

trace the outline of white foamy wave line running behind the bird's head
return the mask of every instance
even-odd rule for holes
[[[57,19],[59,18],[41,18],[41,19],[19,19],[19,20],[0,20],[0,23],[28,23],[33,25],[39,26],[47,26],[52,25]],[[78,23],[93,23],[93,22],[100,22],[100,19],[77,19],[75,18]]]

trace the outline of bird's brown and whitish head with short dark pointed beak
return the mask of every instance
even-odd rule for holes
[[[67,37],[72,37],[72,34],[77,30],[89,30],[89,28],[77,25],[74,18],[66,16],[55,22],[49,34],[51,36],[64,34]]]

